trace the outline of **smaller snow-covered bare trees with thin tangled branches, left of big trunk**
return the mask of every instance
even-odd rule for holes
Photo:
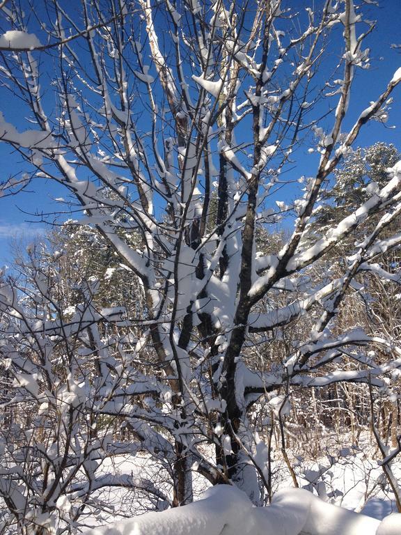
[[[29,247],[21,272],[1,280],[1,529],[74,532],[88,515],[113,510],[105,493],[116,487],[144,496],[145,509],[164,509],[168,486],[157,488],[146,469],[116,473],[118,456],[141,449],[120,400],[136,399],[147,414],[152,396],[139,371],[145,360],[130,362],[125,309],[102,307],[95,276],[76,272],[68,286],[66,252],[40,249]]]

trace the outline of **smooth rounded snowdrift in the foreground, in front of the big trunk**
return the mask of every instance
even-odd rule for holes
[[[382,522],[327,504],[307,490],[285,489],[255,507],[241,490],[220,485],[198,502],[96,527],[86,535],[400,535],[401,514]]]

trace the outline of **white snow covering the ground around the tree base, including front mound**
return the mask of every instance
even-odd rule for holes
[[[284,463],[273,465],[272,504],[255,508],[236,488],[207,488],[202,478],[195,481],[196,502],[162,513],[141,513],[155,509],[144,495],[134,490],[102,491],[102,499],[113,505],[107,522],[99,525],[93,517],[91,535],[400,535],[401,515],[396,514],[394,496],[375,459],[359,449],[341,449],[336,456],[318,460],[299,459],[294,470],[299,486],[293,489]],[[146,478],[162,488],[171,489],[168,478],[146,454],[121,457],[114,463],[117,474]],[[393,463],[401,478],[401,463]],[[139,481],[139,479],[138,479]],[[307,492],[304,489],[308,489]],[[319,497],[317,497],[319,496]],[[164,509],[162,500],[158,509]],[[123,514],[122,514],[123,513]],[[388,516],[391,515],[391,516]],[[132,516],[130,520],[127,517]],[[104,516],[102,517],[104,519]],[[125,520],[123,520],[125,518]],[[381,522],[385,518],[384,522]],[[97,527],[95,527],[97,526]]]

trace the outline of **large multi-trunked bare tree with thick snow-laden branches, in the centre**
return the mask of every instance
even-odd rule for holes
[[[5,280],[2,353],[10,373],[22,374],[16,387],[35,403],[48,391],[67,396],[73,388],[65,418],[75,421],[71,414],[91,408],[124,419],[138,447],[170,474],[174,506],[191,501],[193,472],[212,484],[234,483],[262,502],[269,453],[249,419],[256,402],[269,400],[284,414],[294,388],[343,381],[387,388],[401,366],[401,348],[391,338],[336,322],[345,295],[359,291],[359,274],[394,279],[377,257],[401,242],[392,226],[401,212],[401,164],[324,235],[306,240],[322,187],[363,126],[384,121],[401,82],[398,68],[345,130],[355,72],[370,76],[364,40],[374,24],[362,4],[326,0],[298,12],[280,0],[84,0],[79,8],[47,0],[36,7],[37,18],[17,2],[1,5],[1,80],[16,106],[0,116],[0,140],[26,162],[3,193],[58,183],[82,210],[79,222],[94,226],[140,281],[145,302],[142,318],[83,304],[72,321],[79,333],[68,336],[87,343],[91,355],[80,350],[79,366],[67,368],[65,378],[42,378],[61,358],[47,349],[61,320],[41,305],[43,317],[32,323],[35,309],[22,309],[21,295]],[[342,79],[331,76],[338,70]],[[328,84],[336,90],[327,93]],[[301,189],[303,173],[292,171],[287,180],[283,171],[312,136],[320,157]],[[295,200],[278,200],[281,194]],[[287,217],[288,239],[263,254],[258,229],[268,236]],[[314,277],[317,261],[329,256],[335,265],[336,245],[361,227],[369,231],[347,251],[341,272]],[[134,244],[132,234],[140,237]],[[89,277],[83,284],[91,301],[97,282]],[[117,312],[124,315],[113,317]],[[26,314],[33,314],[29,322]],[[132,323],[128,347],[91,339],[93,325],[116,319]],[[297,323],[308,328],[299,330],[297,343],[281,346],[279,359],[258,367],[246,358],[253,346],[274,348]],[[49,359],[37,364],[40,373],[24,357],[21,336]],[[69,359],[63,343],[62,358]],[[391,359],[375,362],[361,351],[372,343]],[[98,368],[91,379],[85,359],[90,369],[93,355]],[[152,366],[143,370],[142,359]],[[336,370],[328,366],[334,360]],[[353,369],[350,360],[358,364]],[[88,389],[81,390],[84,382]],[[77,448],[86,440],[77,437]],[[205,448],[211,444],[214,458]],[[100,484],[97,465],[88,470],[90,485]],[[6,501],[10,492],[1,487]],[[29,506],[31,495],[22,496]]]

